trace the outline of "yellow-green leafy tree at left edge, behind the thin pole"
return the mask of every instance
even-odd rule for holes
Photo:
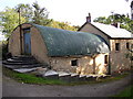
[[[21,23],[24,23],[24,18],[21,16]],[[6,8],[0,12],[0,25],[6,37],[11,35],[11,32],[19,25],[19,15],[14,9]]]

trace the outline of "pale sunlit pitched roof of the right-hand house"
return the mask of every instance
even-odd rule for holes
[[[108,35],[112,38],[133,38],[133,34],[124,29],[115,28],[115,26],[109,25],[109,24],[96,23],[96,22],[92,22],[92,23],[86,22],[81,26],[81,29],[85,24],[93,25],[94,28],[102,31],[105,35]]]

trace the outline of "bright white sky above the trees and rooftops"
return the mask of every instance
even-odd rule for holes
[[[131,13],[130,2],[125,0],[0,0],[0,11],[6,7],[32,4],[35,1],[48,9],[50,19],[70,22],[71,25],[82,25],[89,12],[92,20],[109,16],[112,11],[120,14]]]

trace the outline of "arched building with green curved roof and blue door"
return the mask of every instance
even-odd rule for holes
[[[12,56],[31,55],[57,72],[109,73],[108,42],[96,34],[24,23],[9,38]]]

